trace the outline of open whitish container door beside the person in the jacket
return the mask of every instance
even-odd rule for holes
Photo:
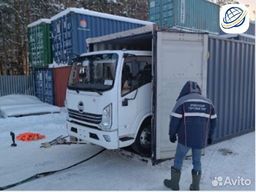
[[[154,38],[153,164],[174,158],[176,143],[169,141],[169,116],[186,81],[198,82],[206,96],[208,35],[157,32]]]

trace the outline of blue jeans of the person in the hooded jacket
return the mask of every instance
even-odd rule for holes
[[[178,143],[173,165],[175,169],[181,170],[182,162],[186,157],[186,153],[188,153],[189,149],[189,147]],[[195,171],[201,171],[201,152],[201,149],[192,148],[192,159]]]

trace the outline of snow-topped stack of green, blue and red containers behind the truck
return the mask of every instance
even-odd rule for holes
[[[68,8],[51,19],[40,19],[30,24],[28,26],[31,39],[30,53],[33,56],[30,61],[35,71],[36,96],[43,102],[63,107],[71,66],[59,66],[70,64],[76,55],[86,53],[87,38],[134,29],[147,24],[152,22],[78,8]],[[47,26],[47,31],[42,30],[45,29],[43,26]],[[33,33],[37,34],[37,40],[33,40],[35,39],[31,36]],[[51,36],[50,33],[52,33]],[[49,39],[52,40],[52,44],[48,41]],[[39,45],[40,49],[35,49]],[[35,50],[36,54],[32,50]],[[46,53],[49,54],[46,55]],[[67,60],[63,61],[61,57]],[[52,68],[48,68],[49,63],[53,63],[50,65]]]

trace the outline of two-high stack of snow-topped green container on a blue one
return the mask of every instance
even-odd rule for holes
[[[35,78],[35,96],[41,101],[54,104],[52,70],[51,19],[39,19],[28,26],[29,64]]]

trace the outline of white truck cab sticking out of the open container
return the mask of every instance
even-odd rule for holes
[[[72,63],[66,93],[70,136],[107,149],[151,152],[151,51],[95,51]]]

